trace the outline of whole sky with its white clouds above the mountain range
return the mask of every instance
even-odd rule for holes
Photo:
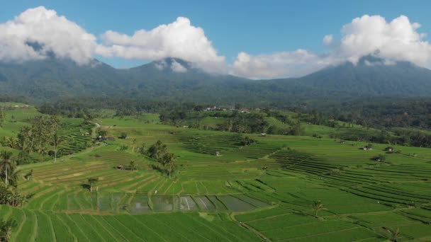
[[[130,68],[177,57],[251,79],[303,76],[367,54],[431,68],[430,7],[425,0],[14,0],[0,8],[0,60],[54,53]]]

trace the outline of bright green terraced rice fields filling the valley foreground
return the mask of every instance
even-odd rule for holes
[[[1,150],[21,157],[9,139],[41,114],[9,105]],[[0,206],[10,240],[431,241],[430,149],[364,150],[318,125],[306,134],[320,137],[177,126],[153,114],[60,118],[56,161],[30,152],[38,162],[16,168],[26,202]],[[171,163],[151,153],[157,141]]]

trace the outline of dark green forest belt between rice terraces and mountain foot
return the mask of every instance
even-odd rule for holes
[[[243,114],[237,112],[201,112],[204,107],[216,105],[217,103],[177,103],[162,100],[142,100],[121,98],[79,98],[62,100],[57,103],[41,105],[39,110],[51,115],[65,115],[69,117],[96,117],[102,108],[116,110],[116,115],[138,115],[141,113],[160,113],[160,120],[169,125],[180,125],[181,123],[190,127],[204,129],[227,130],[230,132],[266,132],[268,134],[303,135],[304,129],[301,122],[313,125],[325,125],[328,127],[339,127],[338,121],[345,122],[347,127],[362,125],[364,127],[375,127],[387,129],[393,127],[417,127],[420,129],[431,128],[431,99],[410,98],[393,100],[393,98],[369,98],[367,100],[352,100],[345,103],[319,102],[310,105],[310,102],[291,103],[289,105],[272,105],[279,110],[291,110],[297,113],[297,117],[289,117],[278,110],[269,110],[262,104],[261,113]],[[220,103],[219,103],[220,104]],[[228,103],[225,103],[228,104]],[[240,108],[240,105],[237,105]],[[250,103],[249,108],[256,104]],[[301,112],[301,113],[300,113]],[[219,127],[202,127],[191,120],[199,120],[201,117],[215,116],[224,117],[224,122]],[[264,117],[275,117],[286,124],[270,125]],[[301,122],[299,122],[301,121]],[[341,135],[341,139],[369,141],[389,144],[404,144],[411,146],[430,147],[430,137],[423,132],[409,132],[403,134],[389,134],[386,136],[375,134]]]

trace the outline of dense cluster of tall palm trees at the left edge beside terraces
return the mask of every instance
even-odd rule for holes
[[[18,165],[32,162],[31,153],[45,156],[50,154],[57,161],[57,151],[64,140],[58,135],[60,119],[57,116],[38,116],[31,120],[31,126],[23,126],[13,137],[4,137],[4,142],[13,149],[21,150]]]

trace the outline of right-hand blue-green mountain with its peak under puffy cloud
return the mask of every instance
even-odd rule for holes
[[[354,96],[430,96],[431,70],[410,62],[385,63],[366,56],[357,64],[345,62],[300,79],[302,85],[338,90]]]

